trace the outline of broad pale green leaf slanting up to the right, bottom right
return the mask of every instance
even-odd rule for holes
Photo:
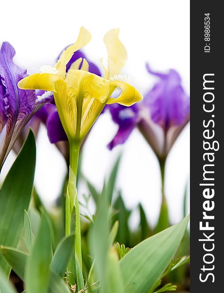
[[[135,246],[120,260],[125,292],[148,293],[165,272],[184,236],[189,216]]]

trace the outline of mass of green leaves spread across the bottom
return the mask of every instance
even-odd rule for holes
[[[38,210],[31,205],[29,214],[27,212],[33,184],[31,173],[32,171],[34,173],[35,167],[35,142],[32,134],[29,134],[16,162],[14,165],[16,164],[17,170],[14,170],[13,165],[0,191],[0,202],[7,199],[7,210],[11,206],[13,209],[13,212],[9,211],[10,216],[13,217],[16,213],[17,219],[19,219],[17,223],[15,219],[13,221],[8,219],[6,213],[3,213],[3,216],[0,213],[0,232],[3,232],[2,235],[5,237],[3,239],[0,236],[0,241],[3,239],[0,242],[0,264],[4,269],[4,272],[0,269],[1,293],[16,293],[7,280],[10,268],[24,281],[26,293],[69,293],[72,291],[74,293],[86,291],[88,293],[163,293],[176,291],[177,286],[172,284],[175,283],[172,280],[170,282],[170,275],[177,269],[179,272],[184,265],[189,263],[189,257],[178,257],[186,254],[188,248],[188,242],[186,242],[178,251],[187,227],[188,217],[164,230],[165,227],[168,227],[168,207],[163,201],[155,229],[163,231],[149,237],[152,231],[145,211],[139,204],[137,209],[140,214],[140,223],[138,228],[132,231],[129,228],[131,210],[125,207],[121,192],[118,192],[115,201],[113,199],[120,156],[101,193],[91,183],[87,183],[96,203],[96,214],[85,216],[89,218],[90,222],[84,224],[85,229],[82,234],[82,241],[86,245],[86,247],[84,246],[85,251],[83,251],[85,253],[83,264],[79,262],[77,251],[75,251],[77,210],[75,210],[73,202],[70,203],[73,207],[70,215],[71,221],[66,225],[70,235],[62,237],[60,241],[55,239],[55,234],[61,235],[61,231],[60,233],[57,231],[58,225],[55,224],[55,221],[60,221],[60,219],[55,220],[50,216],[41,202],[38,204]],[[24,180],[23,175],[18,172],[19,170],[22,173],[24,164],[30,170],[29,176],[25,172],[28,189],[24,187],[24,183],[19,182],[19,180]],[[14,190],[13,188],[14,191],[12,188],[10,189],[9,183],[12,180],[16,182],[16,188],[22,188],[25,195],[21,191],[16,191],[19,189]],[[19,204],[15,196],[20,196]],[[83,207],[87,210],[89,198],[89,196],[84,197],[85,205]],[[37,206],[35,201],[34,204]],[[5,224],[2,224],[4,221]],[[19,232],[11,227],[12,223],[19,229]],[[16,240],[12,237],[10,229],[14,231]],[[19,245],[22,230],[24,230],[22,245],[21,242]],[[6,231],[9,233],[9,237],[6,235]],[[188,234],[186,235],[188,237]],[[10,241],[7,242],[7,239]],[[114,241],[118,241],[121,245],[119,243],[115,245]],[[174,260],[174,257],[178,258]],[[88,259],[88,265],[85,263],[86,259]]]

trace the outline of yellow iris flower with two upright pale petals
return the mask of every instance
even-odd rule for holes
[[[108,52],[108,69],[104,68],[104,78],[88,72],[89,65],[84,59],[76,60],[66,74],[66,64],[75,51],[91,41],[91,34],[81,27],[76,42],[61,54],[55,67],[43,65],[40,73],[19,81],[21,89],[42,89],[54,92],[58,114],[70,142],[81,141],[106,104],[118,103],[131,106],[142,100],[141,94],[126,83],[121,68],[127,59],[127,51],[118,38],[119,30],[106,33],[104,42]],[[121,89],[117,98],[111,95],[116,88]]]

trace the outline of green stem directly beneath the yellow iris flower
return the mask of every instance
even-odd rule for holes
[[[80,141],[76,140],[70,141],[69,181],[65,204],[65,234],[70,235],[72,232],[71,227],[75,226],[75,253],[77,254],[80,267],[82,267],[80,214],[76,189],[80,143]],[[75,212],[75,225],[71,223],[73,212]]]

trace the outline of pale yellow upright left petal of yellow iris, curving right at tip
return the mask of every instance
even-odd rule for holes
[[[74,52],[78,51],[79,49],[87,45],[91,41],[91,39],[92,37],[90,32],[82,26],[80,28],[76,42],[62,52],[59,60],[56,63],[56,68],[59,70],[60,74],[63,77],[65,76],[66,72],[66,64],[70,61]]]

